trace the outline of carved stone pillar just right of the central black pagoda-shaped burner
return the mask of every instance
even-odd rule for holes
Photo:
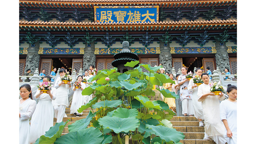
[[[165,71],[171,73],[172,70],[172,57],[171,57],[171,48],[170,43],[167,43],[167,46],[164,46],[164,42],[160,41],[160,54],[159,61],[162,63],[162,66],[165,68]]]

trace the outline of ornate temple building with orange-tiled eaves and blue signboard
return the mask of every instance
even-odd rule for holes
[[[111,69],[122,42],[140,63],[236,74],[237,1],[19,0],[20,75]],[[143,68],[143,71],[146,71]],[[77,71],[78,72],[78,71]]]

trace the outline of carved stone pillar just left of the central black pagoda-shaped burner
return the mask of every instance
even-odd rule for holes
[[[95,66],[96,56],[94,54],[94,51],[95,51],[95,43],[94,42],[91,43],[91,47],[87,47],[87,44],[85,44],[83,66],[82,66],[83,71],[85,71],[85,69],[89,69],[90,65]]]

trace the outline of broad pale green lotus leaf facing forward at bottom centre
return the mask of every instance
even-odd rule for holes
[[[100,125],[103,128],[112,129],[115,133],[129,132],[136,130],[139,127],[139,119],[134,117],[129,118],[119,118],[119,117],[109,117],[105,116],[98,119]]]

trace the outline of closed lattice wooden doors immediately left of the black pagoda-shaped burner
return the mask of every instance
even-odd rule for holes
[[[103,69],[112,69],[114,68],[112,66],[114,58],[97,58],[97,63],[96,63],[96,69],[103,70]]]

